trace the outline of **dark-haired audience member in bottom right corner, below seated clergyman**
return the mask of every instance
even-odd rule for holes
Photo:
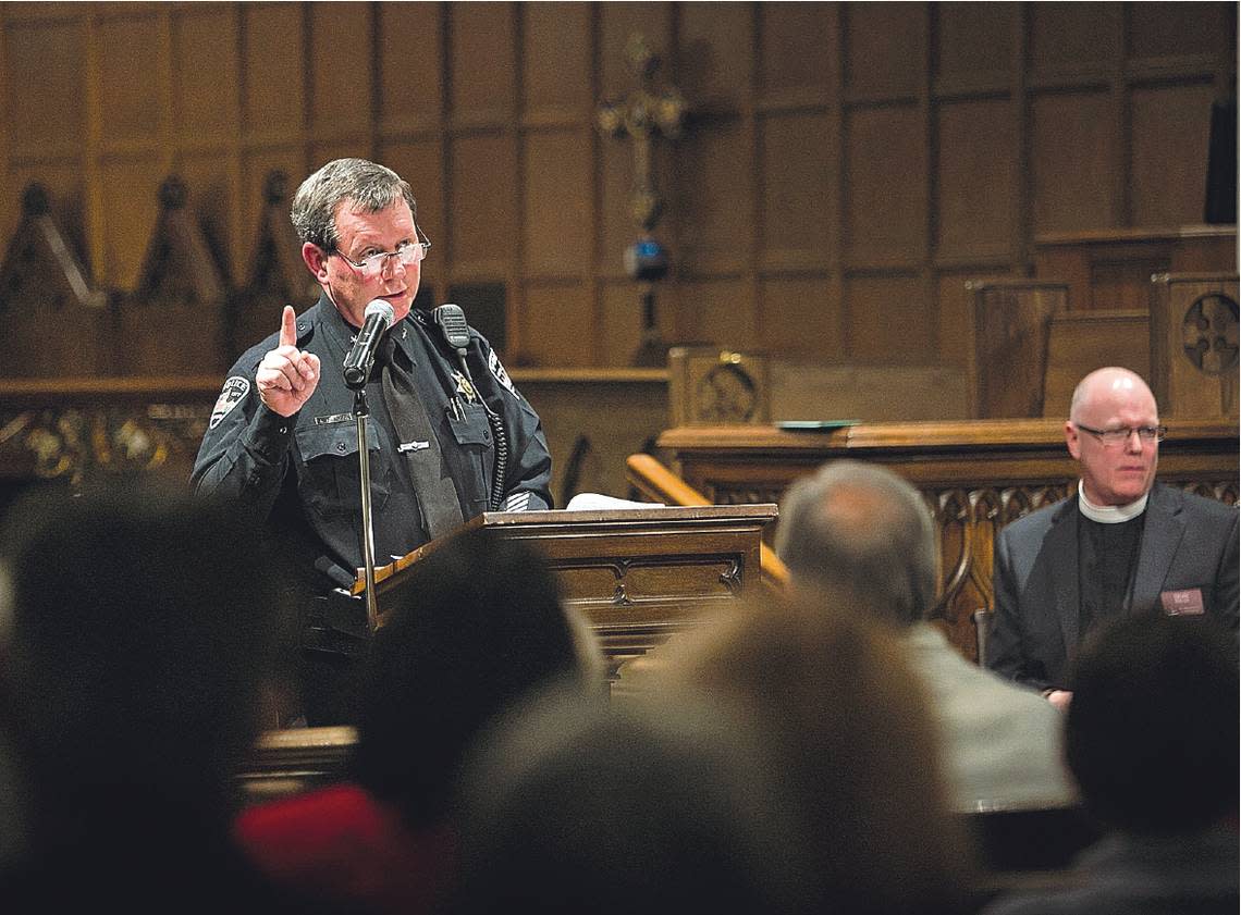
[[[1069,765],[1112,832],[1080,883],[1001,899],[988,915],[1237,911],[1237,655],[1210,620],[1107,624],[1072,676]]]

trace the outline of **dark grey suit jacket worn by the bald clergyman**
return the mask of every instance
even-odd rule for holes
[[[1081,641],[1077,496],[1013,522],[995,539],[995,625],[988,666],[1036,689],[1066,688]],[[1237,629],[1237,510],[1155,484],[1147,502],[1132,612],[1199,589],[1203,609]]]

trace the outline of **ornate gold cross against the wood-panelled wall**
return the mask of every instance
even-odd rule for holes
[[[661,92],[652,89],[653,77],[660,61],[642,35],[629,36],[624,53],[629,72],[638,81],[638,88],[623,102],[601,104],[597,118],[599,130],[604,135],[629,136],[633,140],[630,214],[644,232],[650,232],[664,212],[664,202],[655,191],[652,174],[654,139],[656,136],[676,139],[688,105],[676,88],[669,87]]]

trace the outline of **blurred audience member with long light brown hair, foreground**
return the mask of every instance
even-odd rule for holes
[[[839,600],[772,601],[685,634],[659,650],[645,696],[656,713],[686,688],[743,712],[800,823],[815,911],[961,910],[973,863],[923,689],[887,629],[824,603]]]

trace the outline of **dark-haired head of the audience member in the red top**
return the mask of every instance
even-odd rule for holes
[[[468,744],[510,703],[557,677],[607,683],[546,562],[519,541],[460,534],[403,594],[375,640],[354,774],[418,828],[443,815]]]

